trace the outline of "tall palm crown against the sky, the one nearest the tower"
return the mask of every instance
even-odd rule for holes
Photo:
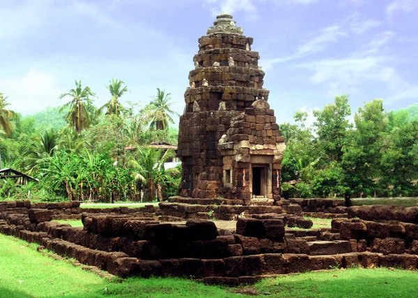
[[[152,96],[153,100],[144,107],[146,121],[150,122],[150,128],[164,130],[169,127],[169,122],[174,123],[170,115],[180,116],[178,112],[170,110],[171,94],[165,90],[157,88],[157,96]]]

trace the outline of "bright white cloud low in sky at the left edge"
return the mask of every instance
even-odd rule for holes
[[[48,106],[60,105],[53,73],[42,73],[31,68],[23,77],[0,80],[0,90],[8,96],[10,109],[31,114]]]

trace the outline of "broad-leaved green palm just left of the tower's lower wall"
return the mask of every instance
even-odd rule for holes
[[[137,184],[144,186],[148,193],[148,201],[155,200],[155,193],[158,193],[158,199],[162,200],[161,189],[167,181],[167,173],[164,169],[164,163],[167,159],[173,157],[172,150],[162,153],[162,150],[154,148],[139,148],[138,160],[132,158],[127,164],[134,170],[132,176]]]

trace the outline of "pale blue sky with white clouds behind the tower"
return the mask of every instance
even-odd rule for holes
[[[353,113],[418,102],[418,0],[0,0],[0,91],[26,115],[83,79],[101,106],[115,77],[124,100],[143,107],[160,87],[181,114],[197,40],[222,10],[254,37],[279,124],[341,94]]]

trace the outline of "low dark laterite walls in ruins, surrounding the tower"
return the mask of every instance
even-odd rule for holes
[[[224,205],[218,207],[222,213]],[[418,207],[350,207],[350,219],[335,218],[331,228],[310,230],[286,228],[301,223],[277,212],[278,206],[229,206],[227,212],[247,209],[251,217],[224,229],[199,219],[160,223],[148,212],[153,206],[125,214],[83,213],[79,228],[51,221],[56,210],[78,208],[79,202],[0,202],[0,233],[121,277],[193,276],[238,285],[309,270],[418,266]]]

